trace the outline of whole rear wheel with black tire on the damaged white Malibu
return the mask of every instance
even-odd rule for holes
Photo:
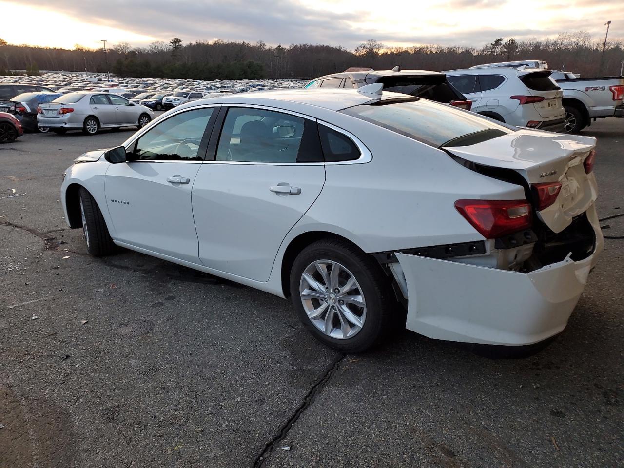
[[[316,268],[316,262],[321,263],[325,275]],[[338,281],[332,281],[331,271],[336,264],[340,267],[336,270],[339,271]],[[304,273],[313,275],[311,281],[316,281],[316,288],[305,280]],[[355,283],[353,288],[341,291],[351,277]],[[339,289],[323,290],[323,286],[338,286]],[[341,240],[317,241],[301,251],[291,268],[290,293],[295,311],[306,328],[321,343],[343,353],[361,353],[378,344],[394,329],[393,323],[401,316],[381,266]],[[364,307],[356,305],[354,298],[362,299]],[[315,315],[314,319],[310,317]]]

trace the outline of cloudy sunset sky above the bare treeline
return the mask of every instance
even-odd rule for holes
[[[624,38],[624,0],[0,0],[0,37],[12,44],[101,47],[180,37],[184,42],[480,47],[496,37],[554,37],[583,29]],[[53,6],[52,6],[53,5]],[[391,5],[385,9],[384,6]],[[24,25],[29,25],[24,27]]]

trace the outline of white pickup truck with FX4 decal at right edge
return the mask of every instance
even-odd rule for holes
[[[624,117],[624,77],[555,79],[563,89],[565,133],[578,133],[592,119]]]

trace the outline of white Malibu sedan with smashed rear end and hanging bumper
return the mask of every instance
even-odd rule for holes
[[[67,223],[290,297],[323,343],[396,324],[526,345],[560,333],[603,248],[595,139],[517,129],[374,84],[228,94],[67,169]]]

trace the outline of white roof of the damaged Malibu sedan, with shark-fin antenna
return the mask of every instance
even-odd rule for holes
[[[303,109],[320,107],[327,110],[342,110],[354,105],[367,104],[376,100],[400,99],[413,100],[414,97],[397,92],[384,91],[381,95],[364,94],[355,89],[308,88],[308,89],[271,89],[253,93],[215,94],[214,97],[198,99],[185,104],[194,107],[197,104],[257,104],[278,107],[285,110],[303,112]],[[190,104],[190,105],[189,105]]]

